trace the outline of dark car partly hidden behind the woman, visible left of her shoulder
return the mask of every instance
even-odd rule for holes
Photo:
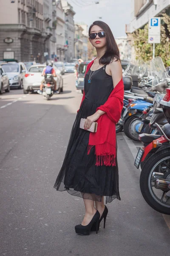
[[[85,79],[85,70],[87,65],[90,63],[91,61],[84,61],[81,64],[79,64],[78,67],[78,78],[77,78],[77,83],[76,83],[76,87],[77,90],[84,90],[84,79]]]

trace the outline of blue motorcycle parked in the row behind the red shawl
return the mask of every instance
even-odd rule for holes
[[[142,132],[142,128],[144,128],[142,112],[150,105],[153,105],[153,99],[151,97],[136,99],[127,105],[121,121],[124,133],[128,138],[139,141],[139,134]]]

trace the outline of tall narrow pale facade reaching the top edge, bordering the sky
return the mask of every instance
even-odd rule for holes
[[[74,15],[73,7],[65,0],[61,1],[65,13],[65,61],[75,58],[74,53]]]

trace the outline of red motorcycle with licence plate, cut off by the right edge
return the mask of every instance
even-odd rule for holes
[[[168,123],[163,126],[155,123],[161,135],[139,135],[144,146],[138,151],[135,166],[142,165],[140,189],[147,204],[170,215],[170,88],[160,104]]]

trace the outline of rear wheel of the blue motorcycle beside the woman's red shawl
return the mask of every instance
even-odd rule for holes
[[[131,116],[126,120],[123,126],[124,133],[126,136],[132,140],[139,141],[139,133],[137,133],[135,127],[136,125],[142,122],[142,119],[139,118],[138,116]]]

